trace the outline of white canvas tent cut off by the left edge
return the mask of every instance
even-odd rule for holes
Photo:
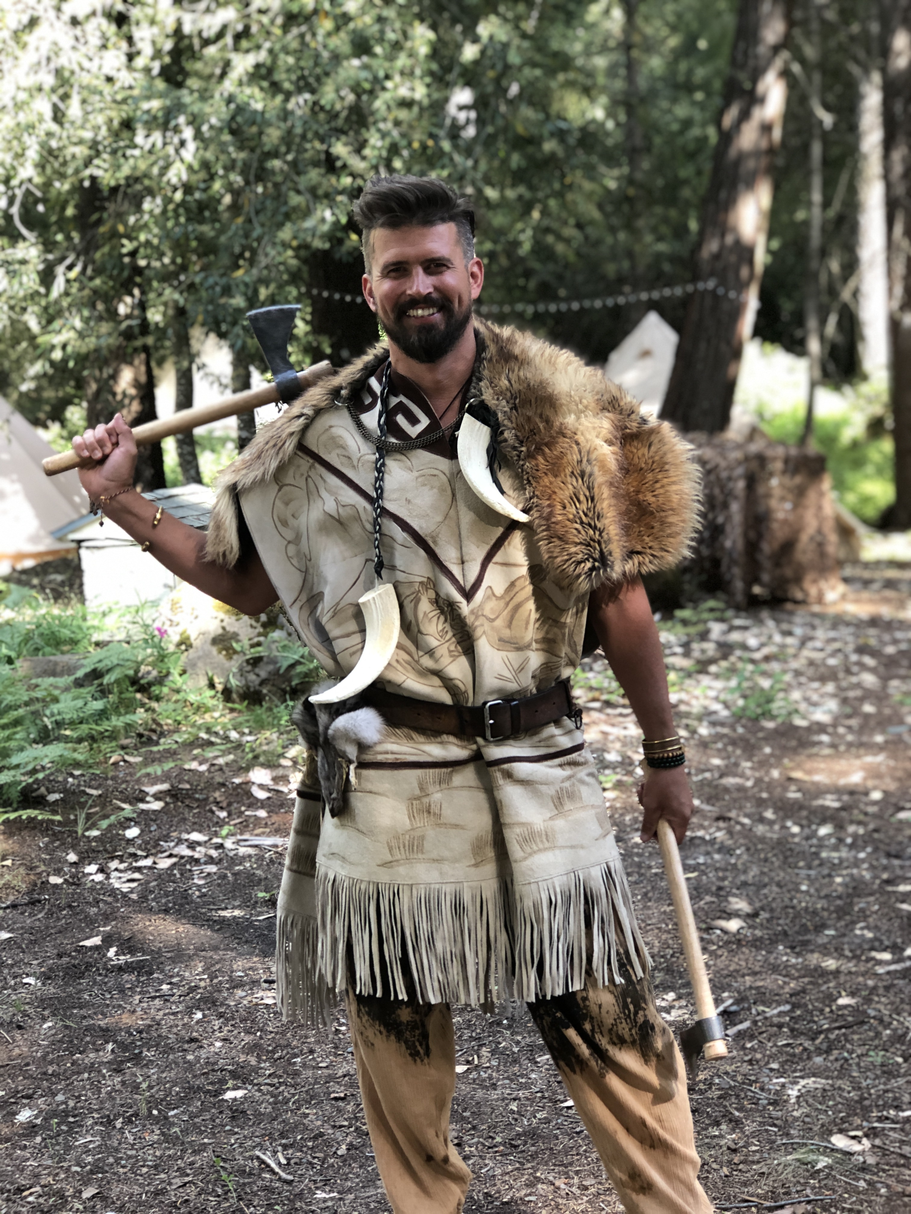
[[[0,397],[0,575],[69,556],[74,545],[52,534],[84,515],[89,499],[75,472],[47,477],[52,448]]]

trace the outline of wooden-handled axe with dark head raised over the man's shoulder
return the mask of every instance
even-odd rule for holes
[[[248,312],[247,319],[250,322],[256,340],[262,347],[273,382],[265,387],[253,388],[249,392],[237,392],[227,396],[213,404],[203,404],[198,409],[181,409],[172,418],[163,418],[158,421],[147,421],[142,426],[136,426],[132,437],[137,447],[147,447],[149,443],[160,442],[169,435],[182,435],[197,426],[204,426],[209,421],[220,421],[222,418],[232,418],[238,413],[249,413],[261,404],[277,404],[283,401],[290,404],[307,388],[332,371],[328,362],[317,363],[302,371],[295,371],[288,359],[288,340],[294,328],[294,318],[300,308],[300,304],[284,304],[281,307],[261,307],[255,312]],[[94,461],[86,460],[85,466],[91,467]],[[49,455],[41,461],[45,476],[57,476],[58,472],[67,472],[72,467],[80,467],[83,461],[75,452],[62,452],[60,455]]]

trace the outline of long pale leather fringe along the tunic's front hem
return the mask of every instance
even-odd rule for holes
[[[317,868],[321,981],[421,1003],[491,1006],[636,977],[650,966],[618,861],[549,881],[394,885]],[[411,981],[409,981],[411,980]]]

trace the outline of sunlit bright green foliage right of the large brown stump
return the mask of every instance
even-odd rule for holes
[[[859,393],[854,408],[824,413],[814,421],[813,441],[826,456],[832,487],[841,501],[864,522],[876,526],[895,500],[894,449],[884,427],[885,401]],[[794,407],[766,416],[762,425],[776,442],[799,442],[804,410]]]

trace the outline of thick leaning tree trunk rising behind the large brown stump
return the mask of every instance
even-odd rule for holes
[[[790,0],[741,0],[712,178],[662,418],[683,430],[728,425],[762,282],[773,159],[787,101]]]

